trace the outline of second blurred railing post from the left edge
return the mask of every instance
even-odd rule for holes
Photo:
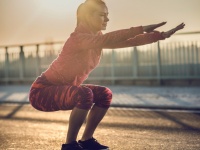
[[[25,57],[24,57],[24,50],[23,46],[20,46],[20,64],[19,64],[19,78],[21,81],[24,80],[24,73],[25,73]]]

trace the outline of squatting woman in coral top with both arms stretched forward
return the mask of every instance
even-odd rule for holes
[[[99,64],[103,48],[123,48],[164,40],[184,28],[180,24],[167,32],[154,31],[166,22],[131,27],[102,34],[107,26],[108,9],[103,0],[86,0],[77,10],[77,27],[59,56],[31,86],[30,102],[41,111],[72,110],[66,143],[62,150],[107,150],[93,138],[106,114],[112,91],[107,87],[82,84]],[[90,112],[89,112],[90,110]],[[89,112],[89,114],[88,114]],[[88,114],[82,138],[77,135]]]

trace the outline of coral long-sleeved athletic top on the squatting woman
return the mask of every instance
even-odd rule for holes
[[[164,39],[160,32],[143,34],[142,26],[94,35],[83,25],[78,25],[66,41],[58,57],[44,72],[55,85],[82,84],[99,64],[103,48],[114,49],[139,46]]]

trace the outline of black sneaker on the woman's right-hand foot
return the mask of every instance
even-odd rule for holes
[[[91,138],[86,141],[79,140],[78,143],[83,150],[109,150],[109,147],[101,145],[96,139]]]

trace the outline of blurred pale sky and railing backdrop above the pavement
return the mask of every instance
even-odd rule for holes
[[[200,85],[199,0],[105,0],[109,23],[104,33],[167,21],[159,31],[184,22],[165,41],[104,50],[87,83]],[[1,0],[0,82],[31,83],[57,57],[76,27],[84,0]]]

